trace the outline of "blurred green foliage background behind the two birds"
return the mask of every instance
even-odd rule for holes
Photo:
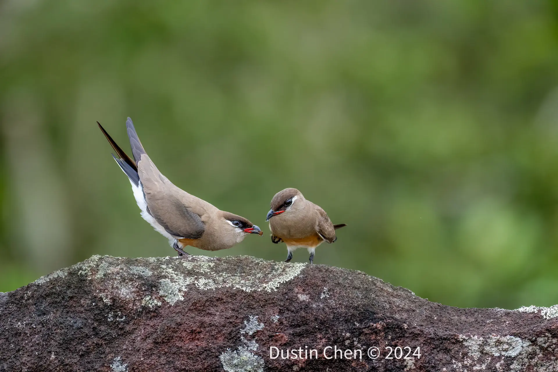
[[[557,1],[0,0],[0,291],[175,255],[95,124],[128,149],[127,116],[172,182],[265,232],[209,255],[285,259],[264,219],[296,187],[349,225],[315,263],[558,303]]]

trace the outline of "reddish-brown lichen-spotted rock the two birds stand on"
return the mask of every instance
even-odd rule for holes
[[[10,372],[558,370],[558,306],[459,309],[247,256],[93,256],[0,294],[0,319]]]

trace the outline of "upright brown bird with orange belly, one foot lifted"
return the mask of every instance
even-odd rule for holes
[[[275,194],[266,221],[270,221],[271,241],[275,244],[283,241],[287,245],[285,262],[292,259],[295,249],[307,248],[310,264],[314,262],[316,247],[324,241],[336,241],[335,230],[347,226],[344,223],[333,225],[324,209],[306,200],[299,190],[293,188]]]

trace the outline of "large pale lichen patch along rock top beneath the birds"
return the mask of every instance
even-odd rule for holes
[[[171,305],[184,300],[184,293],[191,285],[202,290],[233,288],[245,292],[272,292],[294,279],[306,267],[306,264],[271,264],[265,260],[250,259],[256,267],[248,272],[231,269],[227,259],[208,256],[150,257],[138,260],[143,265],[122,265],[119,264],[122,260],[117,257],[95,255],[70,269],[78,271],[79,275],[87,275],[90,280],[99,280],[97,293],[105,303],[112,303],[113,297],[142,298],[142,306],[152,308],[161,304],[156,299],[157,295]],[[154,268],[153,264],[158,264],[161,269]],[[137,280],[130,280],[134,276],[147,278],[157,274],[162,278],[158,278],[155,293],[151,294],[142,293]],[[56,275],[64,273],[53,273],[40,278],[37,283],[44,283]]]

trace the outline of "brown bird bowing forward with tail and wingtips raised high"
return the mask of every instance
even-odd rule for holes
[[[146,154],[131,118],[126,121],[126,130],[135,161],[100,124],[99,128],[118,155],[118,158],[112,155],[114,160],[130,179],[141,216],[169,239],[179,256],[187,255],[184,251],[187,245],[217,251],[232,247],[248,234],[263,234],[246,218],[221,211],[172,184]]]

